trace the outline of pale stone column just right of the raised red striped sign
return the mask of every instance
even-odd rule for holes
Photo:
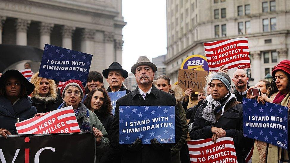
[[[260,51],[254,51],[250,54],[253,58],[251,65],[251,77],[254,79],[254,83],[258,83],[258,81],[261,80],[261,53]]]

